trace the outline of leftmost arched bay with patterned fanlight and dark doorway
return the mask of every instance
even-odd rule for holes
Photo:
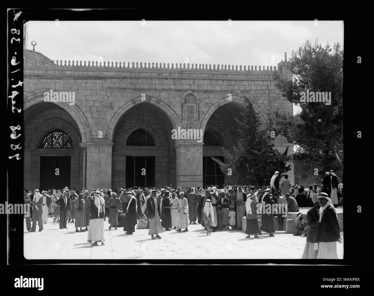
[[[56,104],[41,102],[27,108],[24,118],[24,188],[81,188],[82,137],[73,116]]]

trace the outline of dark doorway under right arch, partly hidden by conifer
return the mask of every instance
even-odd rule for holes
[[[225,182],[225,174],[212,157],[224,163],[223,156],[203,156],[203,187],[205,187],[205,185],[218,185],[222,188]]]

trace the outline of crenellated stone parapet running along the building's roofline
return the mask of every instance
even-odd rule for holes
[[[30,68],[56,68],[56,69],[111,69],[119,71],[192,71],[192,72],[223,72],[238,74],[275,74],[276,66],[242,66],[242,65],[211,65],[190,63],[138,63],[138,62],[98,62],[98,61],[70,61],[70,60],[43,60],[25,58],[25,67]]]

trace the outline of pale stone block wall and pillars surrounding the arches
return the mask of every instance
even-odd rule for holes
[[[173,128],[183,128],[187,121],[182,120],[182,97],[186,93],[196,94],[198,102],[198,118],[193,121],[197,128],[205,128],[209,117],[214,110],[220,106],[232,102],[243,104],[244,97],[248,97],[258,109],[267,112],[279,110],[292,115],[292,103],[288,102],[276,89],[274,75],[275,69],[269,67],[257,69],[257,66],[236,68],[231,66],[216,65],[152,65],[146,67],[140,63],[115,63],[104,66],[92,66],[88,62],[68,61],[62,65],[56,65],[45,60],[25,60],[24,67],[24,108],[43,102],[43,90],[49,91],[71,91],[75,92],[75,106],[68,103],[56,103],[68,112],[74,112],[82,142],[85,145],[96,146],[95,149],[87,149],[87,180],[96,178],[90,182],[96,184],[94,187],[109,187],[111,184],[111,147],[105,148],[107,157],[100,158],[99,163],[94,166],[96,170],[108,170],[108,177],[103,180],[98,174],[91,174],[94,156],[89,153],[96,153],[99,145],[111,146],[113,143],[114,126],[120,120],[123,113],[131,106],[141,101],[144,94],[146,102],[152,103],[165,113]],[[79,64],[79,65],[77,65]],[[288,62],[281,62],[279,67],[288,67]],[[287,69],[288,71],[288,69]],[[286,71],[286,73],[288,73]],[[38,92],[39,91],[39,92]],[[228,99],[228,94],[232,100]],[[126,105],[128,104],[128,105]],[[264,115],[262,115],[265,117]],[[102,132],[102,138],[99,137]],[[166,131],[171,133],[171,131]],[[175,144],[183,144],[183,148],[176,146],[176,173],[177,183],[181,181],[178,176],[188,176],[186,180],[191,184],[202,179],[202,166],[197,163],[202,157],[202,145],[196,141],[175,140]],[[187,148],[190,145],[191,148]],[[200,151],[201,149],[201,151]],[[194,152],[196,164],[186,165],[178,152]],[[90,161],[89,161],[90,159]],[[196,171],[197,170],[197,171]],[[195,177],[192,177],[195,175]],[[87,181],[87,183],[89,183]],[[107,184],[109,183],[109,184]],[[105,184],[105,185],[104,185]],[[177,184],[180,185],[180,184]],[[180,185],[181,186],[181,185]],[[200,185],[201,186],[201,185]]]

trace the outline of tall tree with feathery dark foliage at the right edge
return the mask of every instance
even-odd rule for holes
[[[294,162],[307,163],[322,171],[343,169],[343,50],[339,43],[331,48],[314,45],[308,40],[292,52],[291,70],[294,81],[277,77],[287,100],[301,107],[293,119],[281,114],[269,119],[269,124],[288,141],[294,141],[297,151]],[[300,102],[301,92],[331,92],[331,105],[324,102]]]

